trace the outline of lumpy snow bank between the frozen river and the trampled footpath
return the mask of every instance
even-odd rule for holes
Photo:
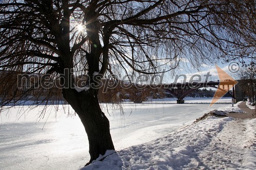
[[[231,117],[210,116],[196,124],[165,135],[151,142],[139,144],[112,154],[100,156],[85,169],[183,169],[191,168],[211,138],[216,136]],[[121,163],[122,162],[122,163]]]

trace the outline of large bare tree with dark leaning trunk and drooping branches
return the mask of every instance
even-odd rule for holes
[[[184,58],[198,66],[240,53],[251,57],[255,11],[254,1],[3,0],[2,75],[48,76],[24,91],[18,80],[2,76],[1,85],[13,91],[3,95],[2,106],[28,100],[28,90],[59,78],[63,98],[88,134],[92,162],[114,150],[97,98],[103,75],[155,74],[174,70]],[[79,75],[87,75],[82,88]]]

